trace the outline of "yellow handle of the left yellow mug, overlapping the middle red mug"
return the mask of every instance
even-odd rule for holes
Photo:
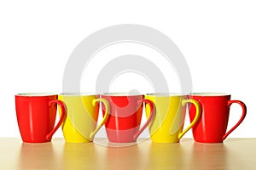
[[[90,133],[90,140],[92,140],[94,138],[96,133],[100,130],[100,128],[103,126],[103,124],[108,120],[108,116],[109,116],[108,100],[107,99],[94,99],[94,100],[92,100],[92,105],[95,106],[97,102],[102,102],[103,105],[105,105],[106,112],[105,112],[105,116],[103,117],[100,125],[98,127],[96,127],[96,129],[92,133]]]

